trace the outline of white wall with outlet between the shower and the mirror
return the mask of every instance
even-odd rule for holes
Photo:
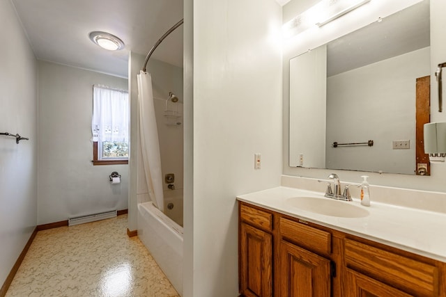
[[[193,287],[185,296],[238,296],[236,195],[278,186],[282,172],[282,8],[198,0],[193,9],[193,252],[185,250]]]

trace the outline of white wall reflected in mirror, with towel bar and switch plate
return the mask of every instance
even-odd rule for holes
[[[430,70],[426,47],[328,77],[325,167],[415,174],[416,82]],[[332,147],[369,140],[373,147]],[[393,150],[401,140],[410,149]]]

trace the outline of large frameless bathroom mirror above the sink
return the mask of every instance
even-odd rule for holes
[[[429,20],[425,0],[291,58],[289,166],[415,174]]]

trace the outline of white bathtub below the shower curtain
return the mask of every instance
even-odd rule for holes
[[[183,296],[183,227],[152,202],[138,204],[138,237]]]

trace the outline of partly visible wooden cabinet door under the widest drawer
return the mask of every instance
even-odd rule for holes
[[[387,286],[374,278],[369,278],[362,273],[358,273],[347,268],[348,282],[346,282],[346,296],[349,297],[410,297],[409,295]]]

